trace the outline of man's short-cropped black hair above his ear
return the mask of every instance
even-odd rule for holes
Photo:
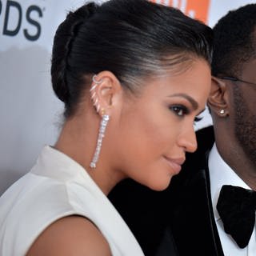
[[[232,10],[214,26],[212,74],[239,76],[241,66],[256,57],[256,4]]]

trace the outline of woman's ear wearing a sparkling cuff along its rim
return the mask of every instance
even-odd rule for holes
[[[109,114],[116,105],[122,86],[118,78],[110,71],[102,71],[92,78],[90,95],[95,110],[101,116]]]

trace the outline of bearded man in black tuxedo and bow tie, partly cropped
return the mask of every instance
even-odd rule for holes
[[[127,181],[110,194],[146,255],[256,255],[256,4],[214,26],[212,74],[214,129],[198,131],[198,150],[187,155],[182,173],[163,192]],[[246,190],[236,195],[236,186]],[[232,194],[227,202],[219,198],[229,189],[238,206],[228,205]],[[250,207],[250,218],[243,216]]]

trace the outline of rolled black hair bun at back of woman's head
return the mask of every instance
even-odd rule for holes
[[[65,21],[58,26],[54,36],[54,46],[58,47],[53,47],[52,53],[54,56],[51,68],[52,84],[55,94],[66,104],[70,98],[70,90],[66,83],[66,69],[72,42],[78,34],[79,27],[95,13],[97,8],[94,2],[90,2],[74,12],[70,11]]]

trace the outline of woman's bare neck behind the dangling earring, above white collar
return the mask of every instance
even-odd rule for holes
[[[95,124],[95,127],[92,127],[93,124],[90,122],[90,129],[86,129],[85,123],[88,122],[82,122],[81,117],[67,120],[54,147],[78,162],[90,174],[102,192],[107,195],[125,177],[122,172],[111,168],[103,148],[96,168],[90,167],[98,138],[99,123],[98,126]],[[104,142],[102,147],[104,147]]]

